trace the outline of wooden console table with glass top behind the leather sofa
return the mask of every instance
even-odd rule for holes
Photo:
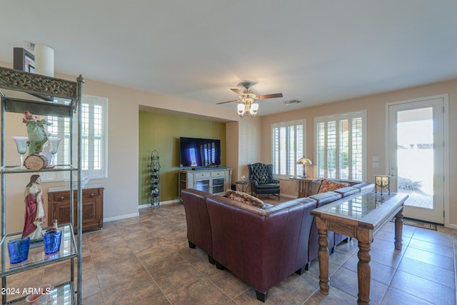
[[[358,240],[358,304],[370,304],[371,256],[373,236],[395,217],[395,249],[401,250],[405,194],[366,193],[343,198],[311,211],[319,234],[319,286],[328,294],[328,230]]]

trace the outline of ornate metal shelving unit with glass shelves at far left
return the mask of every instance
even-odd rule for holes
[[[82,84],[84,79],[80,75],[76,81],[66,81],[64,79],[56,79],[54,77],[43,76],[39,74],[31,74],[24,71],[7,69],[0,67],[0,89],[11,91],[21,91],[31,96],[45,96],[46,101],[37,101],[29,99],[16,99],[7,97],[1,94],[1,240],[0,240],[0,277],[2,287],[7,286],[7,276],[18,274],[20,272],[35,269],[49,264],[55,264],[59,261],[71,261],[70,280],[65,283],[54,283],[54,290],[51,296],[58,304],[81,304],[81,288],[82,288],[82,191],[81,191],[81,95]],[[49,102],[54,98],[59,98],[66,102]],[[39,169],[29,170],[20,168],[19,166],[6,165],[5,154],[5,130],[6,113],[23,113],[31,111],[32,114],[44,116],[60,116],[68,118],[70,121],[71,136],[69,138],[69,164],[58,164],[54,169]],[[76,124],[76,125],[75,125]],[[76,131],[74,131],[76,126]],[[75,133],[77,136],[76,144],[74,144]],[[71,196],[70,223],[61,224],[59,229],[62,231],[62,241],[60,251],[55,254],[45,254],[42,246],[30,247],[29,258],[19,264],[10,264],[7,249],[7,242],[10,239],[20,237],[22,232],[16,234],[6,234],[6,204],[7,204],[7,189],[6,179],[14,174],[36,174],[45,171],[69,171],[70,172],[70,190],[74,191],[74,174],[76,174],[78,196],[76,196],[76,212],[77,212],[77,236],[74,235],[74,197]],[[46,228],[44,228],[46,229]],[[76,287],[74,281],[74,261],[76,259],[77,280]],[[25,304],[26,296],[19,299],[8,300],[6,294],[2,295],[2,304]]]

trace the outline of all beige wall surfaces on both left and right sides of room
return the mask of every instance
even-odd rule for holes
[[[1,66],[11,64],[0,62]],[[76,76],[56,74],[63,79],[76,79]],[[109,99],[109,155],[108,179],[90,181],[89,184],[101,184],[105,187],[104,219],[106,221],[121,219],[138,214],[139,199],[139,107],[152,107],[158,111],[172,111],[176,114],[204,114],[207,118],[223,119],[226,124],[226,165],[233,169],[232,183],[241,175],[247,176],[246,164],[262,161],[271,162],[271,131],[270,124],[278,121],[306,119],[306,147],[307,156],[314,157],[313,148],[313,118],[327,114],[338,114],[347,111],[367,109],[368,119],[368,160],[371,156],[380,156],[379,169],[368,169],[368,179],[374,174],[384,174],[386,166],[384,111],[386,103],[402,101],[424,96],[449,94],[449,130],[456,130],[457,124],[457,80],[439,84],[420,86],[412,89],[395,91],[386,94],[366,96],[360,99],[340,101],[324,106],[311,107],[299,111],[291,111],[273,116],[259,116],[239,119],[235,109],[225,109],[220,106],[196,103],[174,99],[170,96],[154,94],[146,91],[128,89],[121,86],[104,84],[86,79],[84,94],[105,96]],[[6,117],[7,123],[14,122],[14,134],[6,134],[6,139],[12,135],[21,135],[16,131],[24,131],[20,123],[21,116]],[[18,123],[19,121],[19,123]],[[453,134],[449,136],[449,153],[457,149],[457,140]],[[11,146],[6,151],[7,160],[19,158],[11,140]],[[369,163],[369,162],[368,162]],[[449,164],[450,175],[448,184],[450,189],[457,184],[457,163],[451,158]],[[311,172],[311,171],[310,171]],[[21,231],[24,219],[24,203],[22,192],[29,176],[17,177],[8,185],[7,211],[9,212],[8,231]],[[46,192],[51,186],[59,184],[44,184]],[[296,196],[296,184],[291,181],[281,182],[281,193],[284,196]],[[46,203],[47,211],[47,203]],[[457,228],[457,201],[449,199],[449,223]],[[10,226],[14,224],[13,226]]]

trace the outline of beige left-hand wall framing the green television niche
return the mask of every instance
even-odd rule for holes
[[[0,61],[0,66],[11,67],[12,64]],[[76,76],[58,73],[56,73],[56,77],[76,80]],[[101,184],[105,188],[105,221],[138,215],[139,106],[143,105],[159,110],[169,109],[184,114],[205,114],[207,118],[218,118],[225,121],[238,121],[239,119],[235,111],[222,112],[219,106],[174,99],[170,96],[114,86],[91,79],[86,79],[83,94],[104,96],[109,99],[108,179],[89,181],[89,184]],[[26,98],[29,99],[30,96],[26,96]],[[21,124],[21,117],[20,114],[8,114],[6,116],[6,124],[11,123],[14,125],[11,127],[7,125],[6,139],[11,139],[11,136],[26,136],[25,127]],[[229,142],[227,145],[229,145]],[[11,146],[6,148],[6,158],[7,162],[19,159],[12,139]],[[235,160],[236,158],[232,159]],[[17,164],[19,164],[19,161],[17,161]],[[13,219],[13,221],[7,222],[7,233],[22,231],[22,226],[24,225],[24,200],[22,194],[24,187],[29,182],[29,176],[28,174],[21,174],[9,179],[6,210],[8,219]],[[49,187],[60,185],[62,184],[44,183],[42,184],[42,189],[46,194]],[[47,214],[46,197],[45,211]]]

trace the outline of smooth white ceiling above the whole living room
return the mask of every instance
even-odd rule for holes
[[[254,81],[258,115],[457,79],[456,0],[3,1],[0,61],[216,104]],[[301,104],[285,106],[298,99]],[[218,105],[236,111],[236,104]]]

